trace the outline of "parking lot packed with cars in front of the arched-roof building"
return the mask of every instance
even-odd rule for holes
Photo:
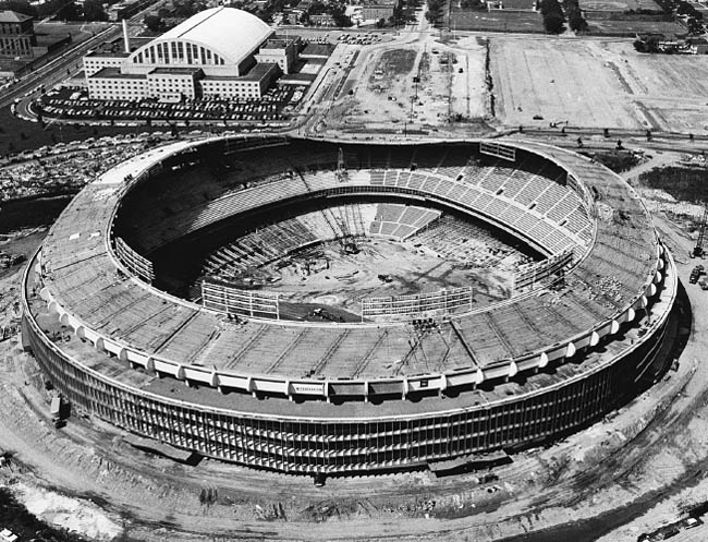
[[[50,91],[34,104],[36,113],[62,120],[282,122],[303,97],[305,86],[280,85],[258,99],[97,100],[75,88]]]

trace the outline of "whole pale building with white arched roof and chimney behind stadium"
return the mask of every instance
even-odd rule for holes
[[[297,60],[300,38],[277,38],[261,20],[233,8],[202,11],[131,51],[84,57],[90,98],[169,101],[257,98]]]

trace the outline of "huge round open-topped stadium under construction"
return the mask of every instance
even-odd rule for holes
[[[23,344],[156,447],[454,470],[652,384],[676,290],[637,194],[569,150],[210,138],[75,197],[25,272]]]

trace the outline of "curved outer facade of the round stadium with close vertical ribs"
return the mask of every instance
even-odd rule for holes
[[[667,254],[663,310],[623,354],[534,393],[457,410],[352,419],[264,415],[178,401],[132,388],[63,353],[37,325],[23,291],[23,337],[72,404],[120,427],[205,456],[295,473],[423,467],[521,447],[583,426],[634,389],[657,359],[678,279]],[[34,262],[25,272],[33,273]],[[344,412],[344,411],[343,411]]]

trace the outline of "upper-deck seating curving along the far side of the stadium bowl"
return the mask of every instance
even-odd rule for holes
[[[264,153],[268,159],[249,159],[253,153]],[[338,182],[333,170],[317,169],[331,166],[331,157],[328,160],[327,154],[284,157],[269,149],[251,154],[232,158],[228,169],[216,171],[211,167],[207,172],[205,168],[176,170],[173,176],[164,176],[167,180],[146,183],[145,195],[151,197],[141,197],[142,188],[138,186],[134,195],[126,197],[124,208],[136,207],[141,212],[130,217],[119,215],[118,220],[119,229],[127,230],[125,237],[129,244],[143,254],[149,254],[178,237],[232,216],[239,209],[297,195],[303,189],[310,192],[331,189]],[[464,165],[455,153],[448,149],[439,153],[437,149],[422,148],[415,150],[413,157],[408,152],[408,158],[404,158],[403,154],[394,156],[393,150],[382,152],[384,156],[381,157],[375,154],[365,164],[358,160],[361,166],[374,168],[368,181],[371,184],[404,186],[460,201],[511,226],[517,226],[522,231],[534,230],[534,234],[539,236],[536,239],[539,244],[551,253],[562,252],[573,243],[586,245],[591,238],[593,225],[579,196],[545,177],[545,169],[548,168],[545,160],[513,166],[499,160],[492,166],[480,166],[469,165],[474,161],[472,158],[467,159],[469,164]],[[404,168],[412,162],[416,165],[415,171],[376,169]],[[354,182],[363,177],[357,174],[358,171],[353,170],[352,173]],[[557,176],[557,180],[560,177]],[[179,182],[175,182],[178,179]],[[248,202],[249,189],[255,186],[260,186],[259,197]],[[240,197],[237,205],[234,205],[233,195],[236,192]],[[267,197],[265,192],[272,197]],[[160,197],[157,198],[157,195]],[[142,203],[156,200],[159,201],[158,206],[148,207]],[[410,228],[383,224],[386,221],[375,225],[373,233],[398,238],[412,233]],[[540,222],[548,222],[549,227]],[[553,231],[558,228],[561,234]],[[563,230],[570,236],[563,236]]]

